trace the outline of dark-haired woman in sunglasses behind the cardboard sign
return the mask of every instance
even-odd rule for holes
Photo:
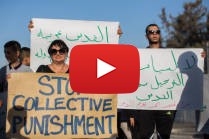
[[[48,48],[52,63],[49,65],[40,65],[36,72],[68,73],[69,66],[65,64],[68,52],[69,48],[63,40],[54,40]]]

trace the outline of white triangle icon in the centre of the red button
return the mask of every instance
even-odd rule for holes
[[[97,78],[100,78],[115,69],[115,67],[97,58]]]

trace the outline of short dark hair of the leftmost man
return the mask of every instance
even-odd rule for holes
[[[18,41],[12,40],[4,44],[4,50],[10,49],[12,52],[21,51],[21,45]]]

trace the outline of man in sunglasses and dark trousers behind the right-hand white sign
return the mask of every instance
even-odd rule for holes
[[[157,24],[146,27],[146,37],[149,41],[147,48],[163,48],[161,45],[160,29]],[[137,110],[135,125],[138,130],[136,139],[151,139],[155,128],[159,139],[169,139],[176,111],[171,110]],[[134,124],[131,121],[131,124]]]

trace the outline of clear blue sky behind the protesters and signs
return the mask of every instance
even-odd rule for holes
[[[156,23],[162,27],[161,9],[176,16],[185,2],[194,0],[0,0],[0,67],[7,64],[3,52],[7,41],[30,47],[27,26],[32,18],[118,21],[123,31],[119,43],[145,48],[146,26]],[[209,10],[208,0],[203,5]]]

